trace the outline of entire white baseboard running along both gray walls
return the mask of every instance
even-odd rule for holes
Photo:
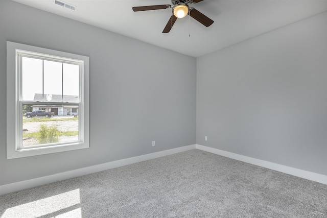
[[[239,155],[239,154],[235,154],[235,153],[231,153],[231,152],[226,152],[226,151],[222,151],[219,149],[214,149],[214,148],[210,148],[210,147],[206,147],[206,146],[201,146],[200,144],[192,144],[190,146],[184,146],[184,147],[180,147],[180,148],[176,148],[176,149],[170,149],[170,150],[166,150],[166,151],[155,152],[155,153],[151,153],[151,154],[146,154],[146,155],[126,158],[126,159],[122,159],[122,160],[116,160],[116,161],[112,161],[112,162],[102,163],[102,164],[98,164],[98,165],[88,166],[88,167],[84,167],[84,168],[74,169],[73,171],[66,171],[63,173],[54,174],[54,175],[50,175],[50,176],[44,176],[44,177],[39,177],[39,178],[35,178],[35,179],[29,179],[29,180],[24,180],[24,181],[20,181],[20,182],[14,182],[14,183],[10,183],[10,184],[0,185],[0,195],[4,195],[6,193],[11,193],[14,191],[19,191],[19,190],[23,190],[23,189],[27,189],[27,188],[32,188],[32,187],[36,187],[36,186],[40,186],[40,185],[45,185],[45,184],[49,184],[49,183],[53,183],[53,182],[57,182],[57,181],[65,180],[65,179],[71,179],[71,178],[78,177],[78,176],[84,176],[84,175],[91,174],[91,173],[97,173],[97,172],[105,171],[107,169],[125,166],[125,165],[129,165],[132,163],[137,163],[137,162],[141,162],[141,161],[145,161],[145,160],[151,160],[151,159],[158,158],[158,157],[164,157],[167,155],[172,155],[172,154],[176,154],[176,153],[180,153],[180,152],[184,152],[184,151],[189,151],[192,149],[199,149],[199,150],[207,151],[207,152],[218,154],[218,155],[228,157],[231,159],[240,160],[240,161],[243,161],[246,163],[251,163],[254,165],[273,169],[278,172],[290,174],[293,176],[297,176],[300,178],[312,180],[312,181],[327,185],[327,176],[326,175],[312,173],[309,171],[303,171],[302,169],[297,169],[297,168],[293,168],[293,167],[289,167],[289,166],[285,166],[285,165],[281,165],[281,164],[277,164],[277,163],[272,163],[272,162],[265,161],[265,160],[247,157],[247,156],[243,156],[243,155]]]

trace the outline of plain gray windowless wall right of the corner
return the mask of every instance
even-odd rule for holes
[[[197,143],[327,175],[327,13],[198,58]]]

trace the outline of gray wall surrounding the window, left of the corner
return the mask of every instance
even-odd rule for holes
[[[195,144],[195,58],[9,0],[0,16],[0,184]],[[6,160],[7,40],[90,57],[89,149]]]

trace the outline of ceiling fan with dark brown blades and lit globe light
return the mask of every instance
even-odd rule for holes
[[[171,5],[150,5],[150,6],[139,6],[139,7],[133,7],[133,11],[149,11],[149,10],[158,10],[158,9],[170,9],[172,8],[173,14],[169,18],[167,25],[162,31],[162,33],[169,33],[169,31],[172,29],[175,21],[177,18],[183,18],[186,15],[190,15],[200,23],[202,23],[204,26],[209,27],[210,25],[213,24],[214,20],[210,19],[209,17],[205,16],[198,10],[189,7],[188,4],[195,4],[198,2],[202,2],[203,0],[171,0],[172,4]]]

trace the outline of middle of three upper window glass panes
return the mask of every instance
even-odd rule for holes
[[[62,94],[62,63],[44,60],[44,99],[43,101],[61,102]],[[53,100],[53,95],[58,99]]]

